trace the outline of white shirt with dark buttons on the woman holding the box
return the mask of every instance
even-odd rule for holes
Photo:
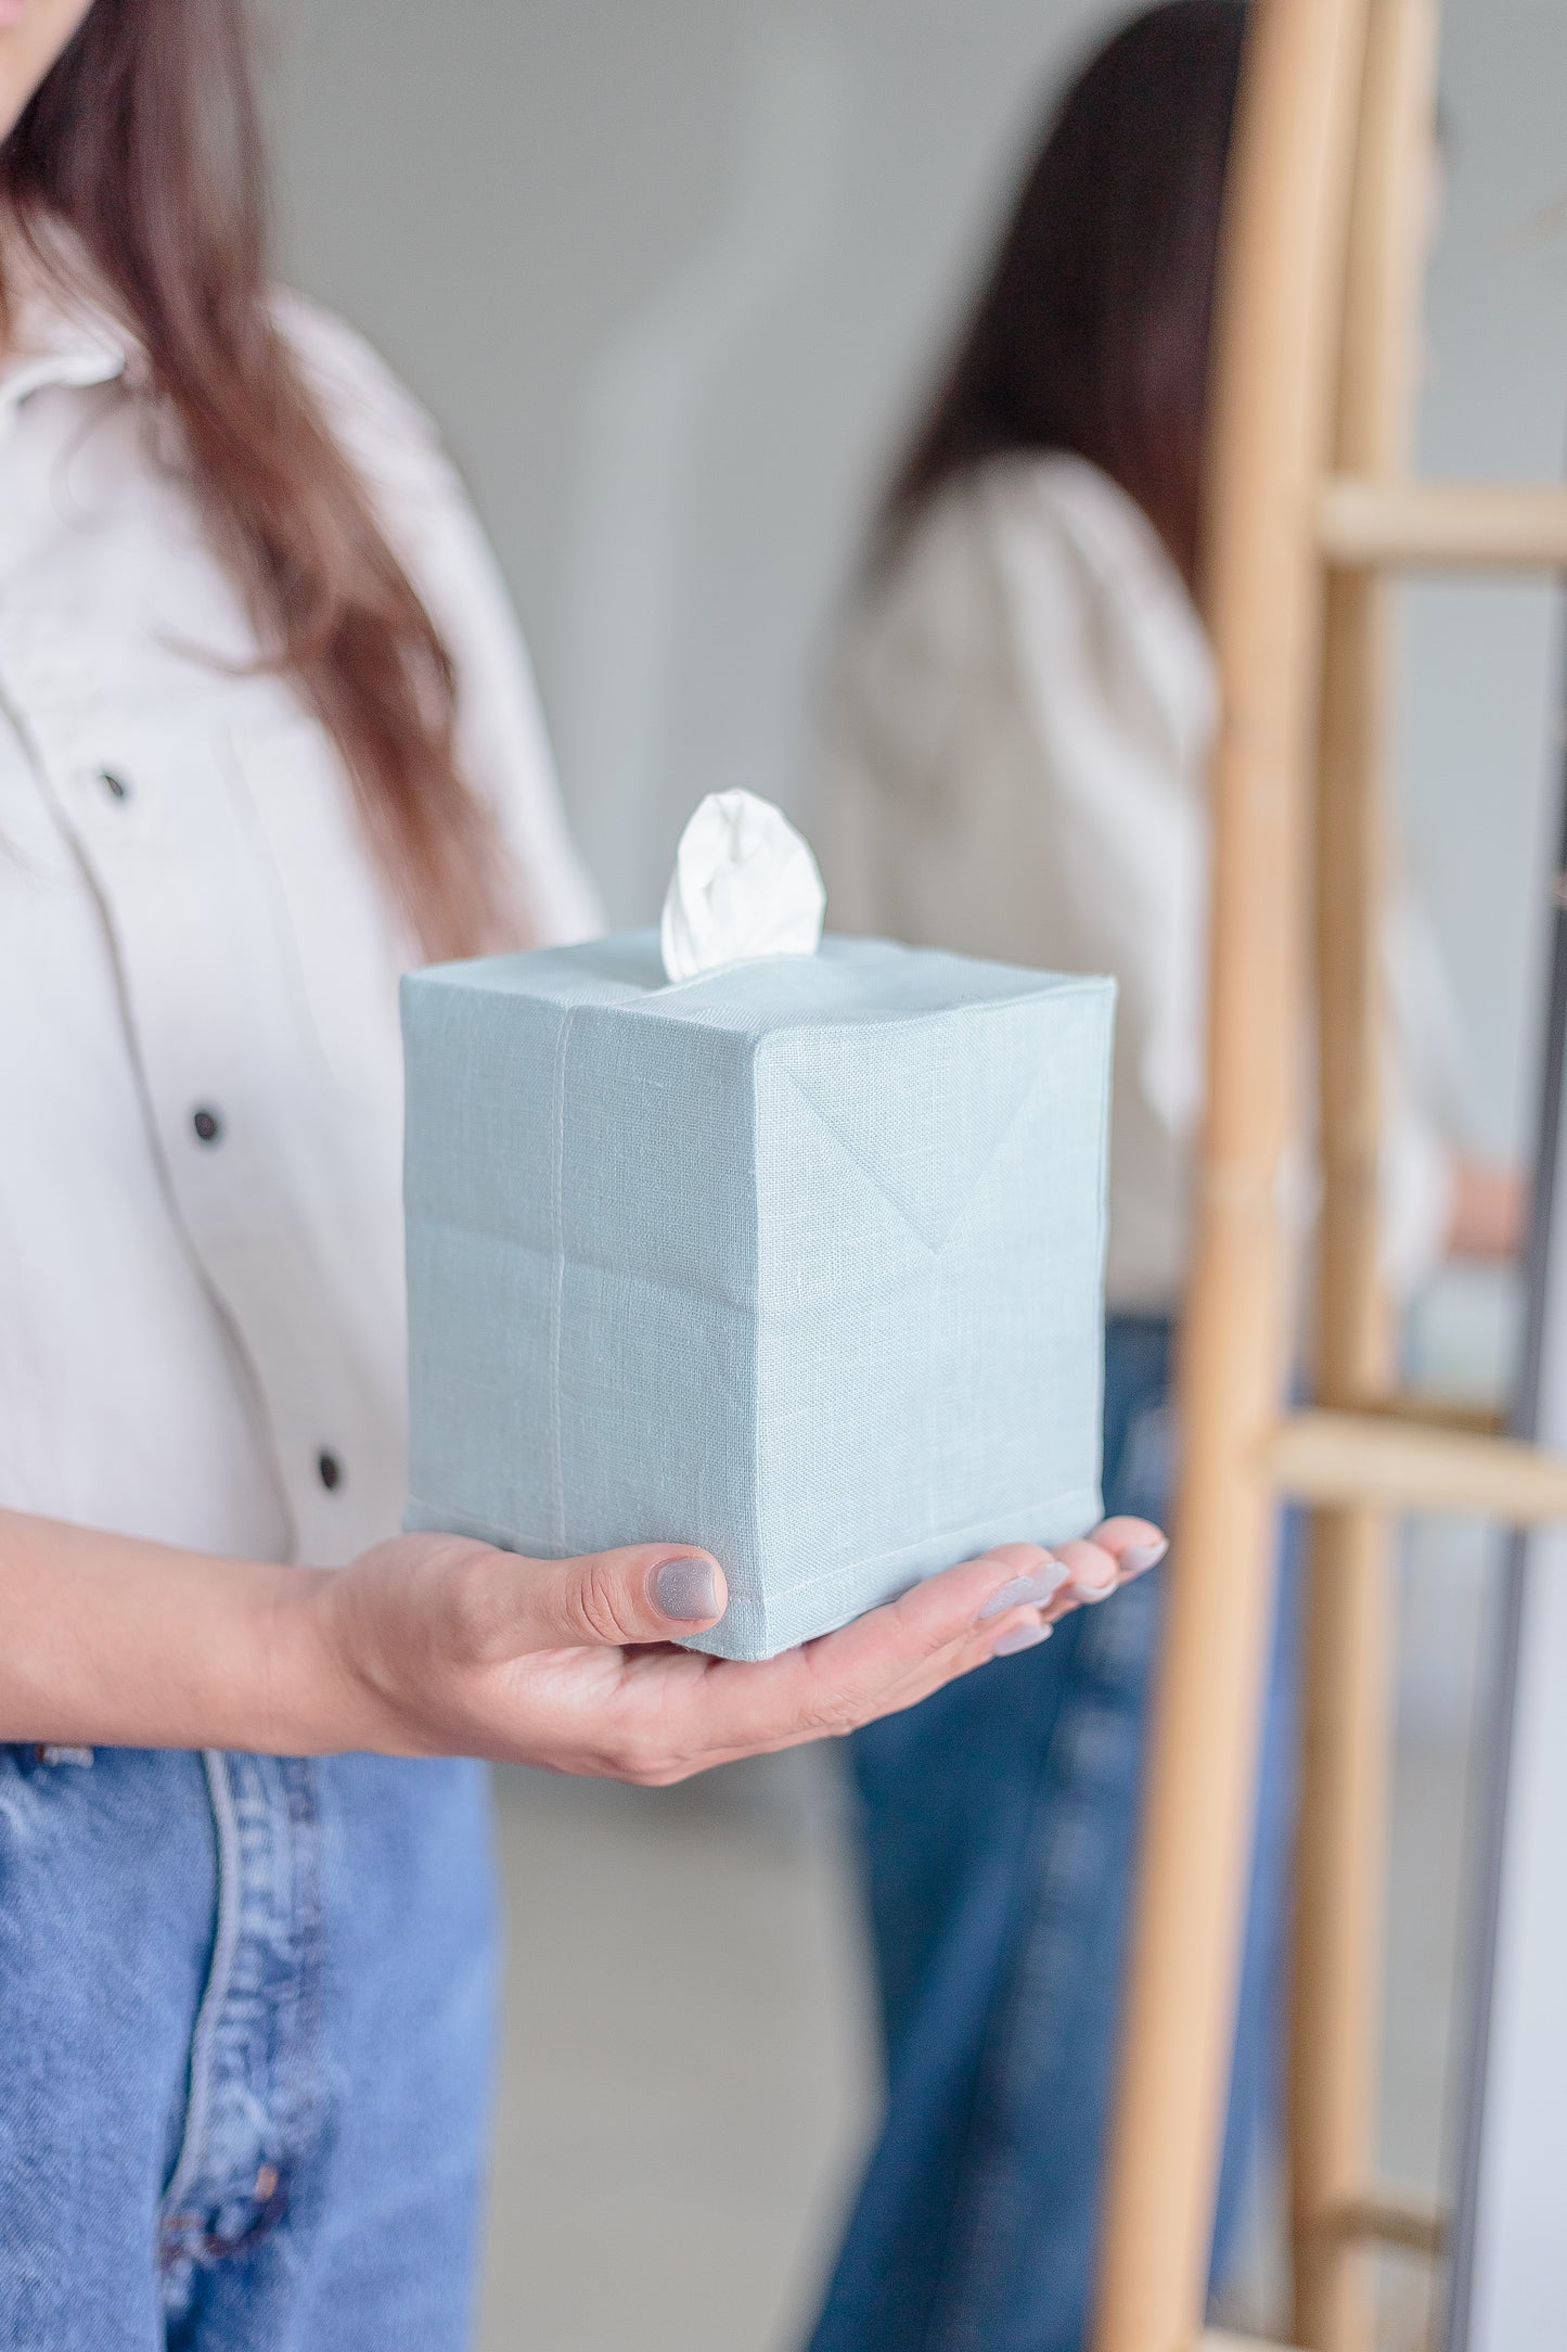
[[[416,960],[106,310],[0,365],[0,1505],[334,1564],[404,1501]],[[458,670],[538,941],[592,891],[491,553],[348,329],[284,322]]]

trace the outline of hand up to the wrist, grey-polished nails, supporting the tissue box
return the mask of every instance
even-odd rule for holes
[[[667,1783],[909,1708],[1163,1550],[1146,1519],[1055,1555],[1001,1545],[761,1665],[670,1646],[726,1604],[721,1569],[674,1545],[540,1562],[399,1536],[291,1599],[331,1661],[343,1745]]]

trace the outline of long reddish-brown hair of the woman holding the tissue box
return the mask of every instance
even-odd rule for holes
[[[336,736],[425,953],[515,929],[446,647],[273,320],[242,0],[96,0],[0,148],[0,202],[66,221],[146,346],[263,656]]]

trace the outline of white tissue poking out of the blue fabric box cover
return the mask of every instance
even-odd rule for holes
[[[754,793],[709,793],[681,833],[658,943],[665,974],[752,955],[815,955],[827,891],[811,847]]]

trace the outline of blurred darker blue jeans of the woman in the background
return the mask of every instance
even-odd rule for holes
[[[1170,1324],[1107,1331],[1107,1512],[1163,1519]],[[1280,1583],[1215,2279],[1278,2107],[1294,1804]],[[813,2352],[1078,2352],[1137,1842],[1161,1573],[855,1733],[888,2114]]]

